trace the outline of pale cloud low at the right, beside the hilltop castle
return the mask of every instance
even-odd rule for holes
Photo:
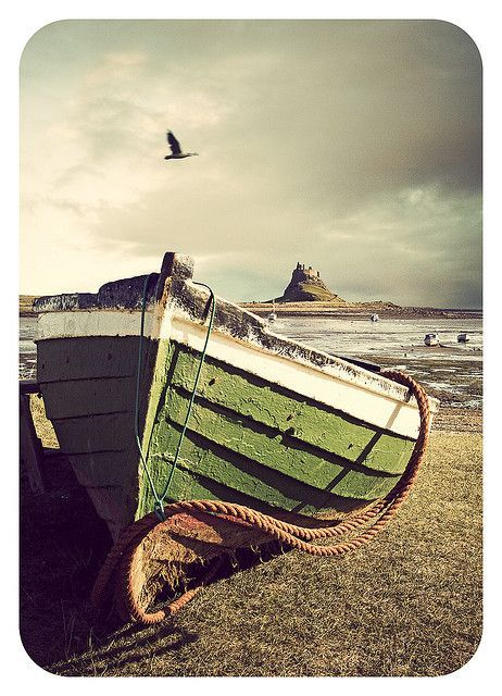
[[[431,186],[377,197],[325,232],[326,245],[342,249],[326,277],[348,299],[480,307],[479,226],[479,195],[444,197]]]

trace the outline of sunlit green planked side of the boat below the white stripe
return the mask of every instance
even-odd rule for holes
[[[171,344],[143,442],[158,492],[173,468],[199,361],[197,351]],[[167,498],[337,515],[388,494],[413,445],[206,358]],[[142,476],[137,514],[153,505]]]

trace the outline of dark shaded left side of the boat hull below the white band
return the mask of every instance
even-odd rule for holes
[[[116,538],[138,504],[138,338],[39,340],[37,356],[40,391],[60,448]]]

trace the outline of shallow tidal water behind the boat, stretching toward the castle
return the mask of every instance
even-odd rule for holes
[[[20,380],[36,380],[37,320],[20,320]],[[444,405],[480,408],[482,401],[482,321],[480,319],[281,318],[268,330],[325,352],[402,370]],[[439,346],[424,336],[437,333]],[[459,344],[467,333],[467,344]]]

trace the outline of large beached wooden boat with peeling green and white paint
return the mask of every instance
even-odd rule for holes
[[[34,306],[47,414],[112,537],[167,481],[166,501],[296,521],[340,520],[387,495],[419,430],[407,389],[212,306],[192,271],[168,252],[158,274]]]

